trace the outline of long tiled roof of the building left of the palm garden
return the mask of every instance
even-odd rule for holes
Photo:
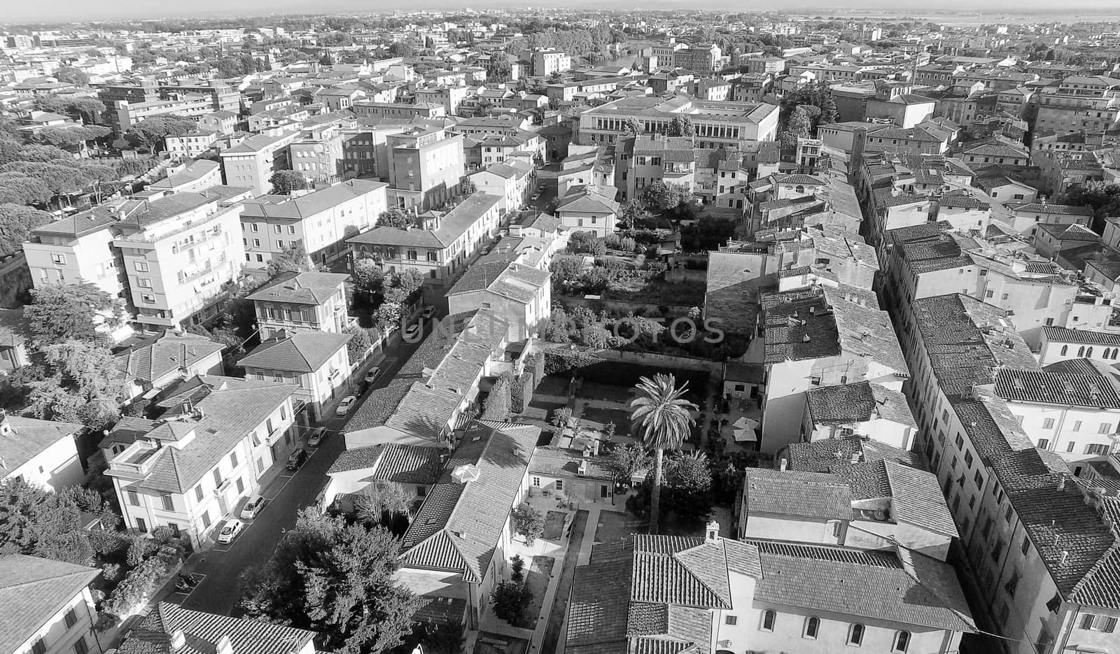
[[[510,511],[521,488],[540,428],[475,423],[463,435],[401,543],[401,564],[461,572],[478,583],[486,574]],[[459,484],[451,476],[472,466],[478,478]]]

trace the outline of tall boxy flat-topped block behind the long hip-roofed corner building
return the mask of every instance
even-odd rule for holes
[[[426,212],[459,194],[465,172],[461,136],[412,127],[386,136],[385,146],[391,206]]]

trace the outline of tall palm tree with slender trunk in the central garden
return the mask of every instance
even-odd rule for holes
[[[673,375],[656,374],[651,380],[638,380],[640,395],[631,401],[631,421],[642,426],[642,442],[654,451],[653,486],[650,488],[650,533],[657,533],[657,517],[661,508],[661,464],[665,450],[681,447],[689,436],[693,420],[689,410],[697,405],[684,399],[685,383],[676,387]]]

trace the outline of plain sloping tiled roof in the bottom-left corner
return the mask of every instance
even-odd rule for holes
[[[17,652],[101,570],[25,554],[0,555],[0,652]]]

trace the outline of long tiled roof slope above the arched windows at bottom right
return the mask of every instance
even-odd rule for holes
[[[745,541],[758,548],[756,600],[819,611],[977,630],[951,566],[904,548],[848,548]]]

